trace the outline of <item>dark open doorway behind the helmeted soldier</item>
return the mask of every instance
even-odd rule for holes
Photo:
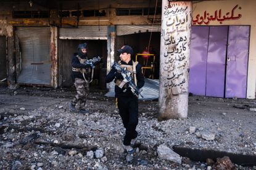
[[[72,65],[71,60],[74,53],[77,53],[77,47],[79,44],[86,42],[88,44],[88,58],[91,59],[95,56],[103,57],[100,64],[97,64],[94,68],[93,82],[91,86],[103,88],[105,82],[102,77],[105,78],[104,71],[107,67],[107,41],[106,40],[78,40],[67,39],[60,40],[59,43],[59,86],[71,87],[73,85],[72,80]]]

